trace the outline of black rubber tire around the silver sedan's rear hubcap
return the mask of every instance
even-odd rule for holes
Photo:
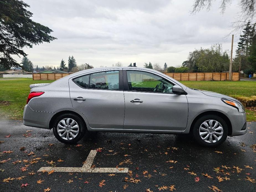
[[[71,139],[71,140],[65,140],[63,139],[62,137],[60,137],[60,135],[58,134],[58,131],[57,131],[57,126],[58,126],[58,123],[65,119],[65,118],[71,118],[73,120],[75,120],[79,126],[79,132],[77,134],[76,137],[74,137],[74,139]],[[54,136],[56,137],[56,139],[58,139],[60,142],[62,143],[65,143],[65,144],[75,144],[77,143],[78,141],[80,141],[82,139],[82,137],[84,137],[85,133],[87,132],[87,128],[86,128],[86,125],[84,124],[84,122],[81,120],[80,117],[78,117],[77,115],[74,115],[72,113],[65,113],[63,115],[60,115],[58,116],[55,121],[54,121],[54,124],[53,124],[53,134]]]

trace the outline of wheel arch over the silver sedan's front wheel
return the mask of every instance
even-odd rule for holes
[[[196,118],[193,120],[191,126],[190,126],[190,129],[189,129],[189,133],[192,133],[193,131],[193,127],[195,125],[195,122],[202,116],[205,116],[205,115],[217,115],[221,118],[223,118],[223,120],[227,123],[227,128],[228,128],[228,133],[227,135],[228,136],[231,136],[232,135],[232,124],[229,120],[229,118],[224,114],[224,113],[221,113],[219,111],[205,111],[203,113],[200,113],[199,115],[196,116]]]

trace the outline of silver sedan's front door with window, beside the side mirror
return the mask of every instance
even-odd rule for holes
[[[172,93],[173,85],[151,72],[127,70],[124,75],[124,129],[184,130],[188,101],[186,95]]]

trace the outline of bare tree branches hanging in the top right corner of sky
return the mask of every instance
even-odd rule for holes
[[[201,11],[206,8],[207,11],[211,9],[212,2],[214,0],[195,0],[193,4],[192,14]],[[237,15],[237,18],[234,22],[231,23],[233,31],[240,31],[248,21],[251,22],[252,27],[256,25],[256,1],[255,0],[237,0],[240,7],[240,11]],[[231,5],[232,0],[220,0],[220,12],[224,14],[227,6]]]

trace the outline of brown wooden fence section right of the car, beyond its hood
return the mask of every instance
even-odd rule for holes
[[[228,81],[229,72],[222,73],[164,73],[177,81]],[[239,72],[232,72],[232,81],[239,81]]]

